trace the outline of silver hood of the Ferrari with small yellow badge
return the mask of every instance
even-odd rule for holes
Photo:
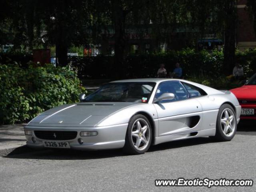
[[[140,103],[81,102],[47,110],[31,120],[27,126],[94,127],[111,114]]]

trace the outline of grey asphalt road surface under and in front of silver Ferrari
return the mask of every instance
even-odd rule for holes
[[[156,187],[155,179],[227,178],[256,182],[256,126],[240,124],[231,142],[168,142],[143,155],[20,147],[0,158],[0,192],[256,191],[252,187]]]

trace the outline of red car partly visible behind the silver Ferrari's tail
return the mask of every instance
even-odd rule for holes
[[[256,120],[256,74],[244,86],[230,90],[238,99],[241,109],[241,119]]]

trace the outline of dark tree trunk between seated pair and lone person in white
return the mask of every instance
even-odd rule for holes
[[[225,3],[226,20],[225,20],[225,46],[224,46],[224,74],[232,73],[232,66],[235,64],[236,52],[236,26],[237,12],[236,0]]]

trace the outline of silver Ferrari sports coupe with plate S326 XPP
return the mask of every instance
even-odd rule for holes
[[[151,145],[186,138],[229,141],[240,113],[229,91],[180,79],[130,79],[81,94],[79,103],[47,110],[24,131],[34,148],[123,148],[142,154]]]

